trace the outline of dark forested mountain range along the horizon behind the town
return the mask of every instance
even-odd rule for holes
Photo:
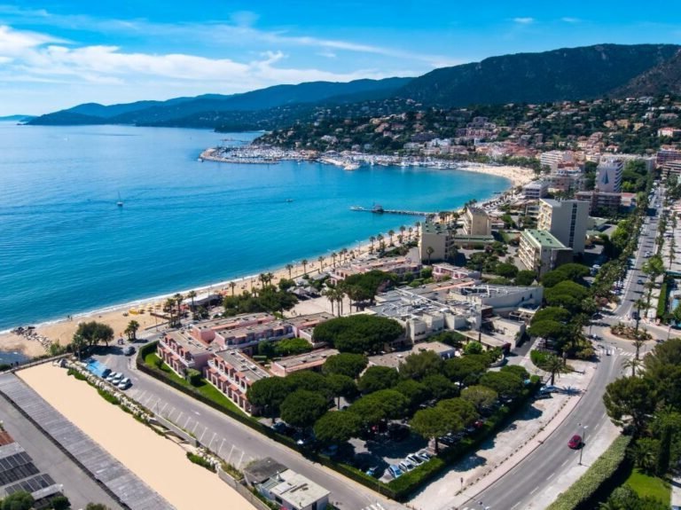
[[[491,57],[418,78],[277,85],[126,105],[85,104],[31,124],[133,124],[221,130],[281,129],[325,112],[385,114],[397,106],[457,107],[677,93],[681,46],[599,44]],[[396,113],[396,112],[393,112]]]

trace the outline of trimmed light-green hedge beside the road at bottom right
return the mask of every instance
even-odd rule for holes
[[[620,435],[610,447],[591,465],[579,480],[568,490],[561,493],[547,510],[586,510],[595,507],[601,487],[613,480],[622,467],[627,447],[631,442],[630,435]]]

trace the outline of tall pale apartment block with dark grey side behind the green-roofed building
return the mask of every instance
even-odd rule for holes
[[[590,203],[585,200],[539,200],[536,228],[550,231],[573,253],[583,253]]]

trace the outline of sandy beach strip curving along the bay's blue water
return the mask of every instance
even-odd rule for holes
[[[472,165],[463,169],[465,171],[488,174],[497,177],[506,177],[510,179],[513,186],[518,186],[522,184],[527,184],[529,181],[535,178],[534,172],[531,169],[521,169],[519,167],[495,167],[489,165]],[[403,218],[403,224],[407,227],[413,226],[415,221],[413,218]],[[395,224],[398,224],[399,220],[395,218]],[[415,229],[416,230],[416,229]],[[395,228],[395,238],[399,234],[397,228]],[[384,232],[383,236],[388,239],[387,232]],[[404,232],[404,236],[408,237],[408,232]],[[375,247],[376,245],[374,245]],[[347,259],[349,260],[351,256],[361,257],[369,253],[370,243],[367,241],[360,245],[347,247],[348,254]],[[336,253],[340,253],[338,250]],[[263,269],[262,272],[272,272],[274,274],[273,283],[277,284],[280,279],[288,278],[298,278],[301,277],[304,272],[310,275],[317,274],[320,271],[324,271],[326,268],[332,265],[333,260],[331,254],[326,253],[321,255],[324,257],[322,263],[319,263],[319,254],[310,255],[308,263],[306,264],[304,271],[301,261],[294,264],[291,271],[286,269],[286,267],[278,268],[275,270]],[[341,257],[337,258],[337,263],[340,263]],[[246,279],[235,279],[235,285],[232,289],[230,281],[224,281],[211,286],[197,287],[193,290],[197,294],[202,292],[219,292],[223,295],[240,294],[244,290],[251,291],[254,287],[260,286],[260,282],[257,276],[249,277]],[[191,289],[184,289],[180,292],[186,295]],[[158,330],[163,328],[163,319],[154,317],[149,313],[150,305],[152,310],[160,311],[160,307],[157,305],[162,304],[165,301],[165,297],[156,297],[147,300],[138,300],[136,302],[121,304],[120,307],[109,308],[101,311],[93,311],[90,313],[84,313],[80,315],[72,316],[70,319],[63,319],[59,321],[52,321],[50,323],[39,324],[36,326],[35,333],[37,335],[42,335],[43,337],[49,339],[52,342],[58,342],[60,345],[67,345],[73,339],[74,333],[78,328],[78,324],[81,322],[87,322],[90,320],[97,320],[98,322],[105,323],[114,329],[115,338],[120,336],[125,337],[124,330],[128,326],[130,320],[136,320],[139,325],[139,331],[137,334],[142,335],[148,331]],[[131,313],[130,310],[142,310],[144,313]],[[16,325],[16,326],[27,326],[27,325]],[[18,351],[22,352],[28,357],[36,357],[45,354],[46,349],[43,347],[41,342],[36,341],[35,337],[28,338],[26,336],[21,336],[14,333],[0,333],[0,350],[3,351]]]

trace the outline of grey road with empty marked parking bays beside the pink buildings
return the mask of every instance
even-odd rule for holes
[[[114,349],[117,350],[117,349]],[[155,412],[160,412],[180,427],[189,430],[213,451],[231,464],[241,467],[252,459],[272,457],[286,467],[307,476],[331,491],[331,500],[341,510],[364,508],[402,509],[394,501],[380,497],[372,490],[355,483],[319,464],[310,462],[298,452],[270,440],[252,428],[231,420],[221,412],[169,388],[160,381],[131,368],[132,357],[110,354],[99,357],[116,372],[129,375],[133,383],[128,394]]]

